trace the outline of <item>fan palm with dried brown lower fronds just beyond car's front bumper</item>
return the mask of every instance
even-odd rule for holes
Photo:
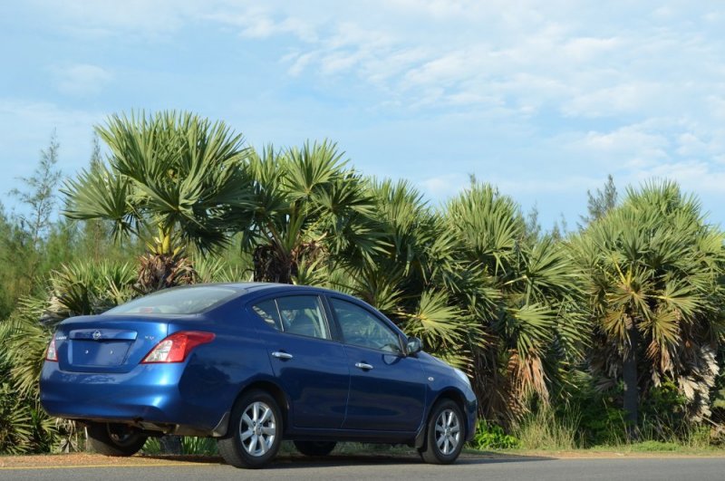
[[[582,352],[576,274],[560,243],[527,240],[520,209],[489,185],[473,180],[444,218],[462,260],[450,289],[482,332],[469,361],[482,414],[506,422],[531,395],[547,402],[562,363]]]

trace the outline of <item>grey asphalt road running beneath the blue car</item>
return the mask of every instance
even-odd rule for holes
[[[284,479],[295,481],[327,481],[336,479],[425,479],[494,480],[535,479],[562,481],[565,479],[602,479],[630,481],[635,479],[663,480],[723,480],[725,457],[701,458],[596,458],[551,459],[518,457],[486,459],[467,457],[452,466],[424,465],[416,457],[330,457],[326,459],[283,458],[262,470],[239,470],[218,462],[171,461],[157,466],[94,466],[38,467],[8,469],[0,467],[0,479],[33,479],[73,481],[136,480],[208,481]]]

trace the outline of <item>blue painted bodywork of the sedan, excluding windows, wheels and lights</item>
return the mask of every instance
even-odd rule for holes
[[[406,357],[345,344],[325,299],[333,294],[372,310],[367,304],[312,287],[226,285],[238,294],[198,314],[102,314],[61,322],[58,361],[45,361],[41,372],[43,409],[60,418],[211,436],[238,396],[265,382],[285,400],[285,438],[413,442],[441,396],[461,401],[472,437],[476,398],[452,368],[424,352]],[[263,299],[303,293],[320,296],[333,339],[278,332],[250,309]],[[213,332],[215,339],[182,362],[141,363],[164,338],[183,331]],[[273,356],[279,351],[293,357]],[[358,362],[372,369],[356,368]]]

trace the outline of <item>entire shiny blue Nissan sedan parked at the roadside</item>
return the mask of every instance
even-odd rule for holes
[[[40,387],[43,408],[82,422],[102,454],[213,437],[236,467],[265,465],[283,439],[310,456],[407,444],[447,464],[477,412],[463,372],[367,303],[282,284],[178,287],[63,321]]]

